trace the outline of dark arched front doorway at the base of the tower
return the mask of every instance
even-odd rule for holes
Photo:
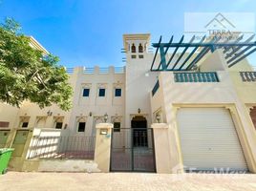
[[[131,121],[133,132],[133,146],[134,147],[147,147],[147,119],[142,116],[136,116]]]

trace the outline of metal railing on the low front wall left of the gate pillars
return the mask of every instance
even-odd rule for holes
[[[95,137],[33,137],[28,159],[94,159]]]

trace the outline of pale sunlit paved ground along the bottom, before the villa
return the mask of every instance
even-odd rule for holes
[[[256,175],[18,173],[0,176],[1,191],[255,191]]]

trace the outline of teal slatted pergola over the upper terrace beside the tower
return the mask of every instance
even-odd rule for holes
[[[157,48],[157,51],[154,55],[153,62],[151,65],[151,71],[185,71],[185,70],[191,70],[195,64],[197,64],[206,53],[211,51],[212,53],[216,49],[224,48],[225,59],[229,58],[226,62],[228,67],[232,67],[233,65],[237,64],[239,61],[244,59],[246,56],[248,56],[251,53],[256,52],[256,49],[252,49],[253,47],[256,47],[256,42],[251,42],[254,35],[250,36],[248,39],[245,40],[245,42],[241,42],[243,39],[243,35],[239,36],[237,40],[233,42],[228,42],[228,40],[224,40],[223,42],[219,42],[222,38],[218,36],[214,36],[211,41],[209,42],[203,42],[205,40],[205,36],[200,40],[200,42],[193,43],[195,40],[195,36],[193,36],[189,42],[183,42],[184,35],[181,36],[181,39],[178,43],[173,43],[174,36],[172,35],[168,43],[161,43],[161,36],[159,43],[153,43],[152,46],[154,48]],[[168,53],[170,48],[174,48],[174,51],[170,54],[169,60],[166,63],[166,54]],[[169,68],[169,65],[173,61],[175,55],[178,53],[178,50],[180,48],[182,49],[182,52],[179,56],[177,56],[177,59],[174,61],[174,65],[172,68]],[[187,53],[187,50],[189,48],[193,48],[192,52],[189,53],[184,61],[182,61],[181,65],[181,58]],[[190,60],[190,58],[196,53],[196,51],[202,48],[201,52],[198,53],[195,58],[193,58],[192,62],[190,62],[188,65],[187,62]],[[243,49],[244,48],[244,49]],[[227,53],[230,49],[230,53]],[[242,49],[242,50],[241,50]],[[252,49],[252,50],[251,50]],[[241,50],[241,51],[239,51]],[[157,66],[154,66],[158,53],[160,51],[160,63],[157,63]],[[177,67],[179,65],[179,67]],[[186,67],[184,67],[186,66]]]

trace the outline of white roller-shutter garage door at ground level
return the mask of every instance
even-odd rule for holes
[[[185,169],[247,170],[244,153],[228,110],[181,108],[178,112]]]

